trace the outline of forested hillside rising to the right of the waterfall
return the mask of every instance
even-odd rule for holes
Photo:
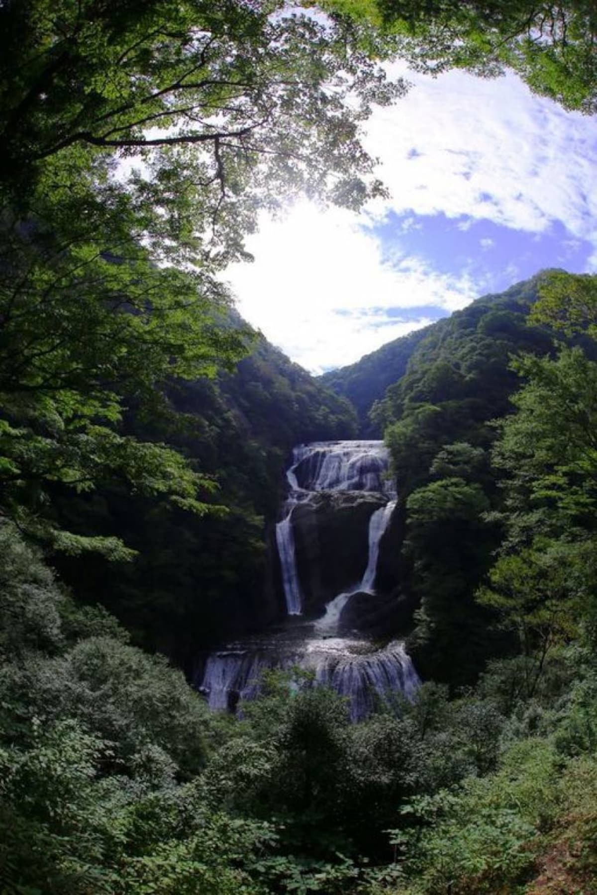
[[[323,378],[338,390],[359,383],[371,401],[371,424],[385,433],[397,476],[390,537],[400,569],[398,582],[393,567],[386,583],[418,668],[451,687],[473,683],[491,657],[512,648],[475,592],[503,538],[503,495],[490,452],[496,423],[512,413],[520,385],[513,359],[553,356],[558,342],[596,355],[590,338],[529,319],[550,276],[559,274],[485,295],[337,371],[336,379]],[[380,400],[387,370],[396,367],[402,372]]]

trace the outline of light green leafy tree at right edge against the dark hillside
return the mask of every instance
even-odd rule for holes
[[[597,363],[581,348],[525,357],[516,413],[499,423],[493,462],[504,474],[508,541],[594,528],[597,499]]]

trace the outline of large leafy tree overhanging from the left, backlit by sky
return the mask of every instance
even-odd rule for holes
[[[127,558],[48,522],[55,483],[213,505],[209,476],[130,417],[247,352],[219,272],[261,209],[379,192],[361,123],[405,88],[366,29],[282,0],[26,0],[0,18],[3,509],[57,548]]]

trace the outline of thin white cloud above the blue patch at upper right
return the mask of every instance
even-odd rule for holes
[[[561,221],[597,249],[594,119],[533,96],[514,75],[408,77],[410,93],[367,125],[367,146],[392,194],[387,208],[535,233]]]

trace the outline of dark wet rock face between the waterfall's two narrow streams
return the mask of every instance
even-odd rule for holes
[[[386,499],[370,491],[322,491],[293,512],[296,566],[304,612],[325,604],[362,579],[368,560],[371,516]]]

